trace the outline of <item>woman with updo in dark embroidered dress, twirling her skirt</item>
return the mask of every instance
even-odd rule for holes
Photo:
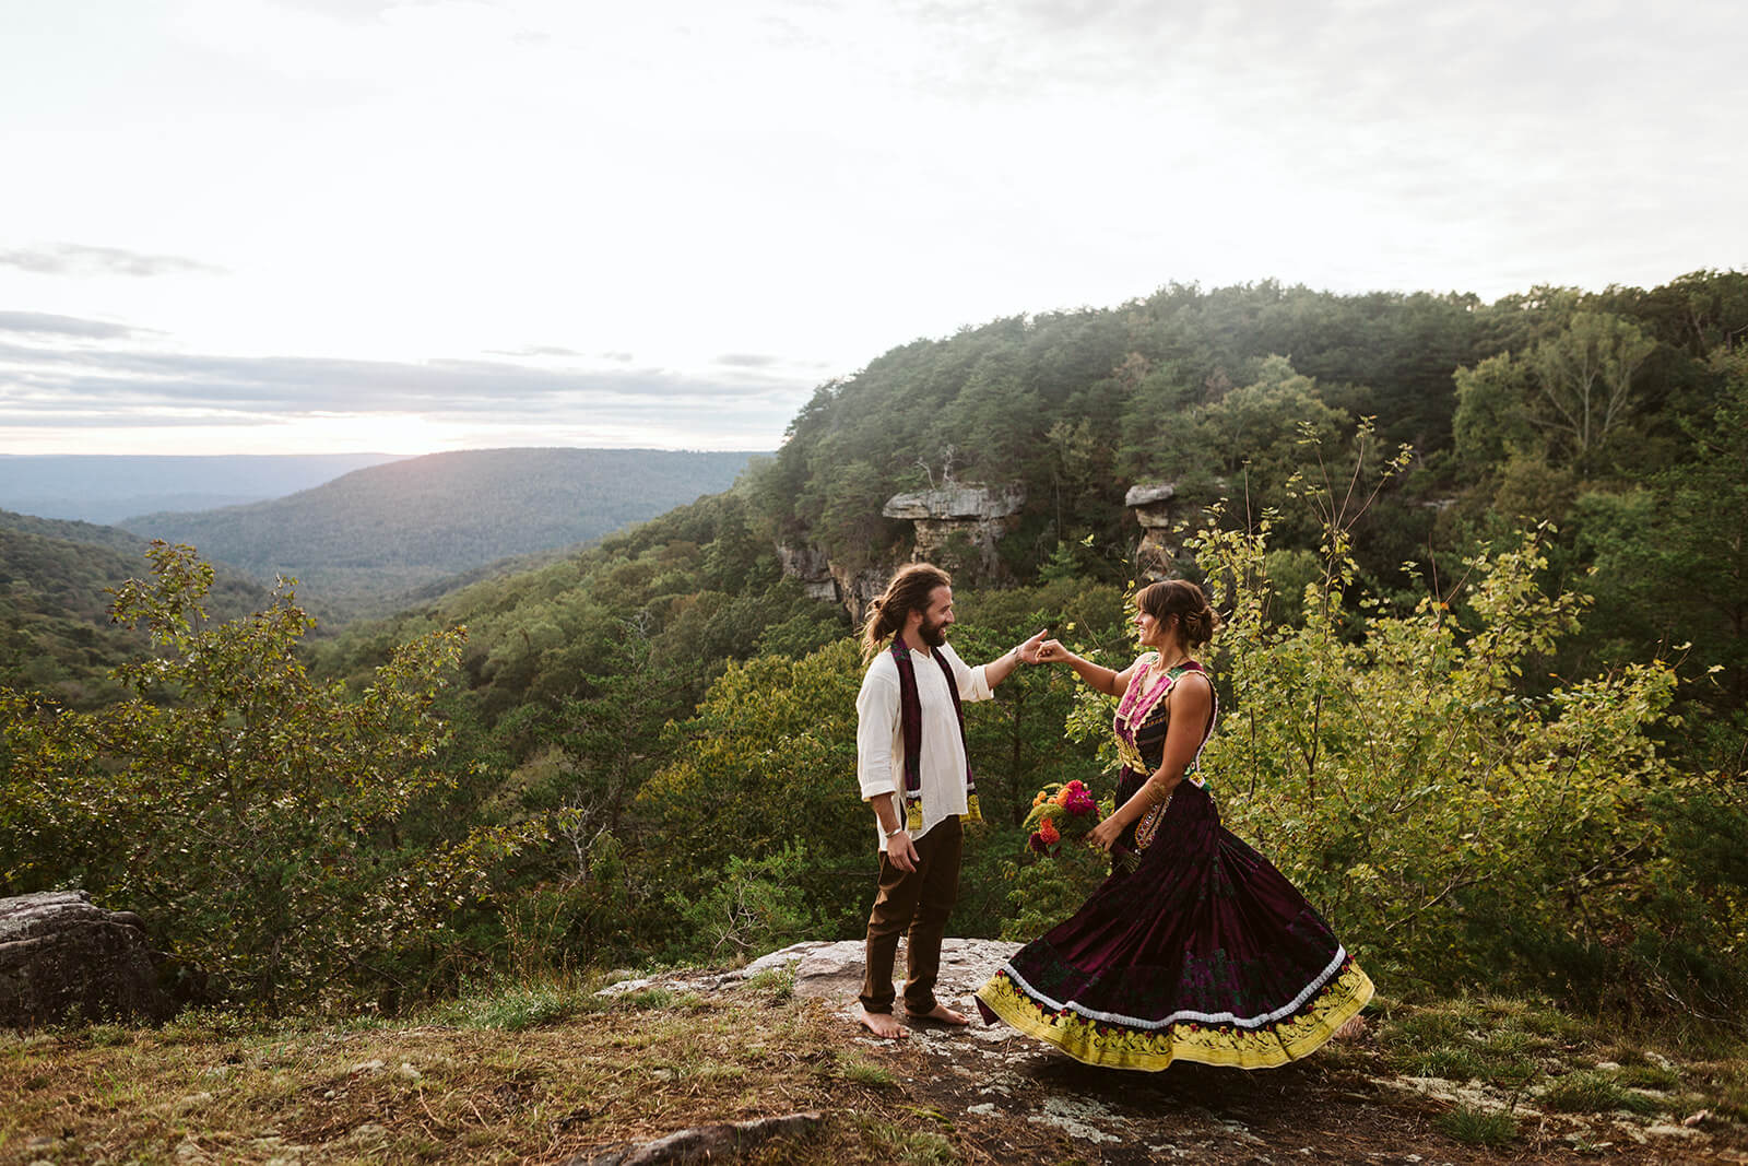
[[[1217,711],[1190,659],[1217,622],[1201,587],[1157,582],[1136,608],[1152,650],[1120,673],[1056,640],[1038,647],[1040,661],[1122,698],[1117,809],[1089,837],[1136,862],[1016,953],[977,1007],[1089,1065],[1285,1065],[1355,1019],[1372,981],[1292,883],[1220,825],[1196,773]]]

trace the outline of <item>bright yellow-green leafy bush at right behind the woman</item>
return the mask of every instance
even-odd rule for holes
[[[1362,491],[1304,489],[1327,524],[1297,610],[1273,594],[1267,523],[1190,540],[1229,612],[1204,757],[1227,825],[1398,982],[1727,1016],[1748,996],[1748,899],[1689,862],[1675,816],[1748,820],[1661,755],[1673,668],[1545,675],[1585,600],[1545,589],[1535,531],[1407,610],[1363,598],[1337,503]],[[1271,619],[1283,603],[1294,619]]]

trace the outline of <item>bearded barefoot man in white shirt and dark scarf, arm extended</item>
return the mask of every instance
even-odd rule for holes
[[[949,582],[939,566],[904,566],[862,629],[869,670],[857,696],[857,776],[862,799],[874,806],[881,860],[860,1021],[884,1040],[909,1035],[891,1014],[891,963],[905,930],[905,1012],[965,1024],[961,1012],[935,1000],[940,939],[960,892],[960,818],[981,820],[960,704],[988,701],[1021,661],[1037,661],[1044,640],[1040,631],[998,659],[967,668],[947,647]],[[883,650],[888,636],[891,645]]]

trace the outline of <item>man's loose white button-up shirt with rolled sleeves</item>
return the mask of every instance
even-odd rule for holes
[[[968,668],[949,645],[940,647],[960,687],[961,701],[988,701],[989,677],[984,664]],[[960,722],[953,715],[953,694],[940,664],[926,652],[911,649],[911,670],[916,673],[916,699],[923,708],[923,753],[918,759],[918,776],[923,788],[923,829],[911,841],[953,815],[968,809],[965,801],[965,741]],[[891,647],[869,664],[857,694],[857,780],[862,783],[862,801],[881,794],[897,794],[893,808],[904,822],[904,718],[898,711],[898,664]],[[874,822],[879,834],[879,820]],[[879,848],[886,850],[881,836]]]

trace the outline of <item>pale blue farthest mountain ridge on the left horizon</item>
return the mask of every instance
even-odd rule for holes
[[[19,514],[121,523],[154,510],[208,510],[278,498],[393,453],[318,455],[0,455],[0,507]]]

